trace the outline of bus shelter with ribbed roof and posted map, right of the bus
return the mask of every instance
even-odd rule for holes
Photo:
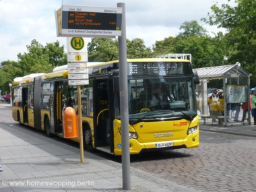
[[[251,74],[240,63],[193,69],[199,75],[197,85],[197,111],[204,124],[251,124]],[[217,89],[217,98],[210,97]],[[246,111],[246,113],[244,112]],[[243,115],[246,117],[243,119]]]

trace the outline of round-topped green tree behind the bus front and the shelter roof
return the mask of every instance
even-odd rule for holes
[[[218,33],[214,38],[206,34],[206,30],[197,22],[184,22],[176,37],[165,38],[154,44],[154,54],[190,53],[193,68],[224,65],[226,46],[224,34]]]

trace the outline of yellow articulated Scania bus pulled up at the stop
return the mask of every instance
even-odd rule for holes
[[[195,83],[185,59],[127,59],[130,154],[199,146]],[[17,77],[12,115],[20,124],[63,137],[63,110],[77,111],[77,88],[68,71]],[[121,155],[119,61],[88,63],[89,84],[81,86],[84,148]],[[78,140],[78,139],[77,139]]]

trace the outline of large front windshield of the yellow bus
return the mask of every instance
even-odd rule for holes
[[[196,115],[193,86],[189,75],[129,79],[129,119]]]

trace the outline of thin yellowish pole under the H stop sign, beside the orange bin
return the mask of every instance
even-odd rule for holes
[[[84,162],[84,138],[82,127],[82,108],[81,108],[81,86],[77,86],[77,104],[78,104],[78,131],[79,131],[79,146],[80,146],[80,162]]]

